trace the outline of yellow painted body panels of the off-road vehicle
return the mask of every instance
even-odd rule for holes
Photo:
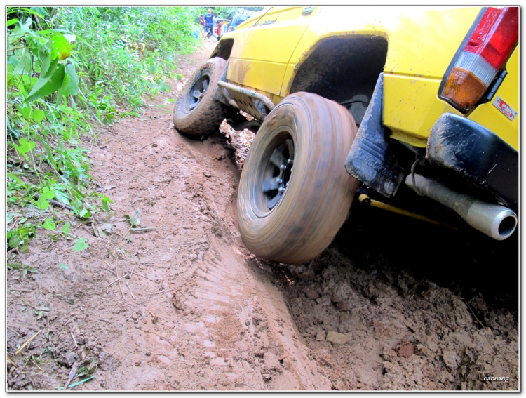
[[[222,38],[222,41],[234,41],[227,81],[263,93],[277,105],[290,94],[299,66],[324,39],[382,37],[389,48],[383,71],[383,123],[390,129],[392,138],[425,147],[429,132],[441,114],[461,114],[438,98],[438,90],[480,9],[424,6],[266,8]],[[497,95],[513,110],[518,110],[518,47],[506,69],[508,76]],[[519,117],[511,121],[487,102],[476,107],[468,118],[518,150]]]

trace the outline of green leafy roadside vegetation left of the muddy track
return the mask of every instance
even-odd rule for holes
[[[6,10],[6,244],[20,252],[42,229],[68,237],[65,208],[79,220],[109,211],[86,153],[104,126],[139,116],[144,95],[170,91],[177,56],[201,36],[198,8]],[[86,247],[76,239],[72,249]]]

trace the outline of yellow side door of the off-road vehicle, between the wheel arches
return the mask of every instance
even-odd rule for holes
[[[236,29],[227,80],[271,99],[278,96],[290,56],[316,8],[272,7]]]

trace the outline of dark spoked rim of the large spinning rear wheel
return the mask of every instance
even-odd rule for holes
[[[260,194],[264,204],[272,210],[285,194],[294,166],[294,141],[288,132],[279,133],[265,151],[262,159]]]

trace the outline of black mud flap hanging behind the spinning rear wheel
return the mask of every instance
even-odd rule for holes
[[[396,145],[382,124],[384,74],[378,77],[375,91],[362,124],[345,161],[347,173],[385,197],[393,197],[404,178],[396,160]]]

